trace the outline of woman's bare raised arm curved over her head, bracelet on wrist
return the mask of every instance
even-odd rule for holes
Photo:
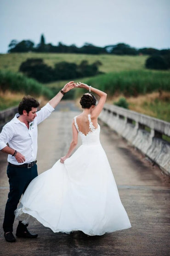
[[[89,92],[93,92],[93,93],[96,93],[100,99],[98,101],[98,104],[97,106],[93,109],[92,113],[91,113],[91,117],[92,118],[97,118],[99,116],[99,114],[101,113],[102,111],[102,108],[106,102],[106,98],[107,98],[107,94],[99,89],[96,89],[94,87],[91,87],[85,83],[77,83],[76,85],[74,84],[74,86],[76,88],[84,88],[84,89],[87,89]]]

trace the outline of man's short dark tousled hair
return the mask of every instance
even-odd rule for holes
[[[23,110],[26,110],[27,113],[29,113],[29,111],[31,111],[32,107],[39,107],[40,103],[35,100],[33,97],[31,96],[24,96],[22,101],[19,103],[18,106],[18,113],[20,115],[23,114]]]

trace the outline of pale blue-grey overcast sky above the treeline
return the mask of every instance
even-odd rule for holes
[[[0,53],[12,39],[170,48],[170,0],[0,0]]]

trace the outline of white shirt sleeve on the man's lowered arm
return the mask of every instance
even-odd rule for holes
[[[10,125],[6,124],[0,133],[0,150],[4,149],[11,138],[13,137],[13,129]]]

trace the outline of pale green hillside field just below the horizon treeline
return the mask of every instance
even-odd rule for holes
[[[13,53],[0,54],[0,69],[17,72],[21,63],[28,58],[42,58],[47,65],[54,66],[60,61],[74,62],[80,64],[82,60],[93,63],[100,60],[102,72],[117,72],[124,70],[144,69],[147,56],[117,56],[117,55],[90,55],[90,54],[45,54],[45,53]]]

